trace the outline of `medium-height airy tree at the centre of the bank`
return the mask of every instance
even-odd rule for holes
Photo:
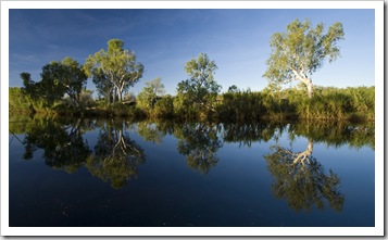
[[[213,78],[216,68],[215,62],[210,61],[205,53],[188,61],[185,71],[190,78],[178,84],[178,94],[185,94],[190,104],[214,111],[213,103],[221,90]]]

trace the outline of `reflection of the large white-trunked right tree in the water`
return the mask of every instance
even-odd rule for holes
[[[275,178],[272,190],[276,198],[286,199],[296,211],[311,210],[313,205],[324,209],[325,201],[334,210],[342,210],[345,198],[338,191],[340,179],[331,169],[325,174],[323,166],[312,156],[311,139],[302,152],[280,146],[273,146],[271,150],[264,159]]]

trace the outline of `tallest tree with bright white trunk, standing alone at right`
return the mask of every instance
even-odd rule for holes
[[[340,55],[337,43],[343,35],[341,23],[333,24],[324,34],[323,23],[312,28],[309,20],[301,23],[297,18],[287,25],[285,33],[272,36],[272,53],[266,61],[268,68],[263,76],[275,84],[300,80],[312,98],[311,75],[323,66],[325,59],[333,62]]]

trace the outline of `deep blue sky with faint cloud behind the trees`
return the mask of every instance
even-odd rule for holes
[[[40,80],[41,67],[53,60],[72,56],[84,63],[89,54],[107,49],[109,39],[118,38],[146,67],[130,90],[134,93],[145,81],[161,77],[166,92],[175,94],[177,84],[188,78],[186,62],[201,52],[218,66],[214,77],[223,91],[231,85],[262,90],[267,85],[262,75],[271,53],[270,38],[296,18],[309,18],[314,26],[323,22],[326,29],[335,22],[343,25],[341,58],[314,73],[313,84],[375,85],[374,10],[13,9],[9,13],[10,86],[22,86],[22,72]],[[95,88],[91,79],[88,88]]]

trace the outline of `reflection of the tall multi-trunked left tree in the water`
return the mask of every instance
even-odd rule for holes
[[[125,124],[101,126],[93,154],[86,161],[89,172],[112,188],[123,188],[137,176],[137,167],[146,162],[143,150],[125,131]]]

